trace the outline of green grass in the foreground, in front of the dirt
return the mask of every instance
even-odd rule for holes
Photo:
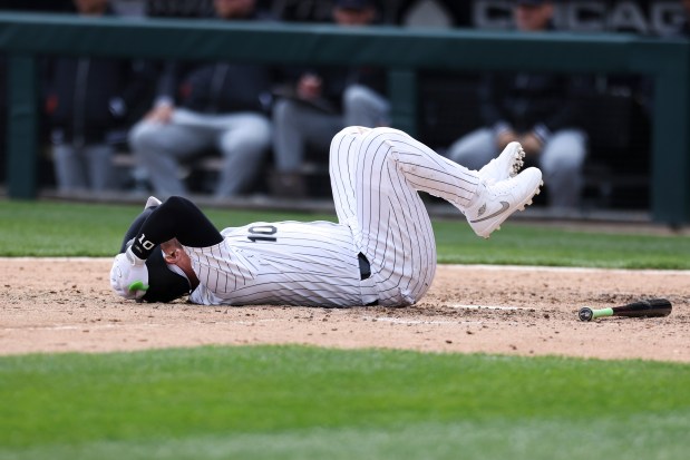
[[[303,346],[0,358],[1,459],[684,459],[690,366]]]

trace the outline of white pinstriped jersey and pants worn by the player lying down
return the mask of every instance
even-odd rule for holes
[[[254,223],[226,228],[224,242],[185,247],[201,304],[402,306],[417,302],[436,272],[431,222],[417,190],[465,209],[476,172],[392,128],[349,127],[333,138],[331,188],[338,224]],[[360,281],[357,254],[371,264]]]

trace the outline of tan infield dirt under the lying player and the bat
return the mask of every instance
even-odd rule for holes
[[[690,272],[440,265],[415,306],[314,309],[124,301],[108,258],[2,258],[0,354],[310,344],[690,362]],[[667,317],[577,321],[665,297]]]

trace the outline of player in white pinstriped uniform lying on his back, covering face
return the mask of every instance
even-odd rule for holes
[[[417,190],[439,196],[487,238],[538,194],[542,173],[517,174],[518,143],[469,170],[391,128],[333,137],[330,177],[338,223],[254,223],[218,232],[192,202],[152,197],[115,257],[125,298],[205,305],[405,306],[436,272],[431,222]]]

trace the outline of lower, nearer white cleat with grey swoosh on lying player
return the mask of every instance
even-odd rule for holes
[[[495,184],[480,183],[477,197],[465,209],[469,226],[477,235],[488,238],[513,213],[531,205],[532,197],[538,195],[543,184],[542,172],[537,168],[527,168]]]

